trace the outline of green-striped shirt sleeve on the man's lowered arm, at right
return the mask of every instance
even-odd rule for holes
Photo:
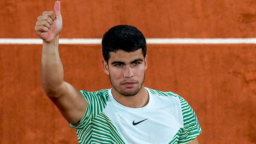
[[[200,133],[202,133],[202,130],[196,114],[188,102],[183,98],[180,98],[180,102],[183,115],[183,130],[178,143],[186,144],[194,140]]]

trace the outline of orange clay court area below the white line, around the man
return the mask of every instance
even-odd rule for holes
[[[2,143],[77,143],[40,84],[41,45],[0,49]],[[200,143],[256,142],[255,45],[148,45],[145,86],[173,91],[195,110]],[[60,45],[65,80],[77,89],[110,88],[100,45]],[[218,138],[216,138],[216,136]]]

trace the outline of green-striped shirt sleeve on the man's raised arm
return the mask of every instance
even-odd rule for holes
[[[81,129],[90,124],[92,119],[97,116],[106,106],[107,99],[104,98],[104,95],[100,92],[87,92],[79,91],[85,98],[87,102],[87,109],[84,113],[83,118],[80,120],[77,126],[69,123],[69,126],[75,129]]]

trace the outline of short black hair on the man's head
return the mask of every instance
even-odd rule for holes
[[[129,25],[118,25],[109,29],[102,38],[102,54],[106,62],[110,58],[110,52],[123,50],[135,52],[142,49],[145,58],[147,52],[146,39],[141,31]]]

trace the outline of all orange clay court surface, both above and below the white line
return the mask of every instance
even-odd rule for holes
[[[0,38],[38,38],[54,1],[1,0]],[[255,0],[61,1],[60,38],[101,38],[129,24],[146,38],[256,37]],[[101,45],[60,45],[65,81],[110,88]],[[42,45],[0,45],[0,144],[74,144],[76,132],[40,84]],[[145,86],[184,97],[199,119],[200,144],[256,143],[256,45],[148,44]]]

